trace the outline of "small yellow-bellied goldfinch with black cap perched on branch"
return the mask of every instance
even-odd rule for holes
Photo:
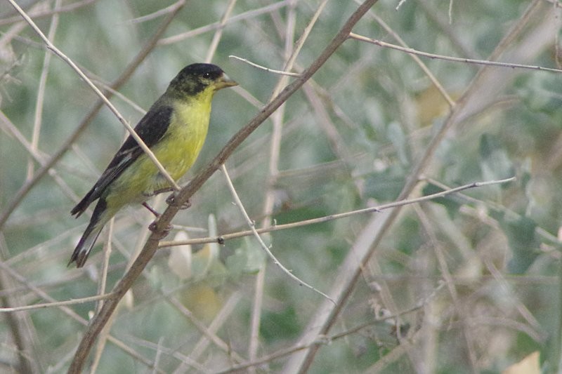
[[[216,65],[188,65],[172,79],[166,92],[138,122],[136,133],[171,178],[181,178],[197,159],[207,137],[214,93],[236,85]],[[98,199],[68,265],[75,261],[77,267],[84,266],[103,225],[119,209],[131,203],[145,203],[150,196],[169,187],[155,163],[129,135],[98,182],[70,212],[79,217]]]

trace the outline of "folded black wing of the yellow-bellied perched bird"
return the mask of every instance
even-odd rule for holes
[[[157,108],[155,106],[157,106],[157,103],[150,108],[148,113],[143,116],[135,127],[136,133],[149,148],[162,139],[162,136],[164,136],[168,129],[171,114],[174,111],[172,107],[167,105],[158,106]],[[113,159],[100,176],[100,179],[98,179],[98,182],[96,182],[96,185],[93,185],[90,192],[84,196],[84,199],[77,206],[74,206],[70,213],[78,217],[86,211],[86,208],[103,194],[107,186],[116,180],[143,152],[143,149],[136,140],[129,135],[115,156],[113,156]]]

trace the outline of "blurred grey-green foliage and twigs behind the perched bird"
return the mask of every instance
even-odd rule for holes
[[[183,184],[272,98],[280,79],[295,79],[229,56],[282,70],[312,25],[291,69],[302,72],[358,7],[351,0],[18,4],[132,125],[192,62],[213,62],[240,84],[216,95],[207,142]],[[378,1],[353,32],[437,55],[560,67],[556,0],[397,6]],[[419,59],[424,67],[403,51],[348,39],[242,143],[226,167],[256,226],[392,202],[410,178],[410,197],[516,180],[405,206],[391,225],[382,224],[391,213],[381,211],[263,234],[282,265],[336,302],[315,354],[306,337],[324,325],[322,308],[331,302],[289,278],[254,237],[162,248],[115,313],[107,342],[94,347],[97,372],[497,373],[525,357],[532,370],[558,370],[562,76]],[[459,100],[454,109],[432,79]],[[0,100],[2,306],[110,292],[153,217],[141,206],[124,209],[86,267],[74,269],[67,261],[90,213],[75,220],[70,210],[126,131],[107,107],[96,109],[96,94],[7,1]],[[152,205],[164,211],[165,197]],[[248,229],[221,172],[191,203],[164,240]],[[2,312],[1,371],[67,369],[97,307]],[[310,365],[296,352],[308,352]],[[538,371],[514,373],[523,372]]]

